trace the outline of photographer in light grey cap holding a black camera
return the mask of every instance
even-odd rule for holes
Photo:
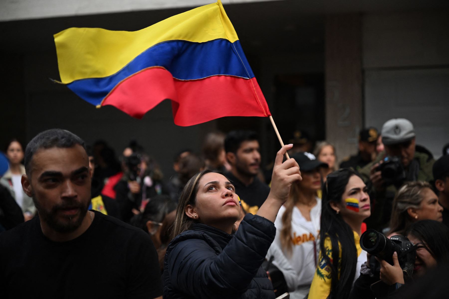
[[[369,228],[382,230],[388,225],[393,198],[405,182],[433,179],[433,156],[416,145],[415,137],[413,124],[405,118],[393,118],[383,124],[385,151],[360,170],[365,182],[370,182],[374,203],[371,217],[366,220]]]

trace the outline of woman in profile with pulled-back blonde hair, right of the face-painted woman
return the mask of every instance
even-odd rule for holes
[[[374,207],[377,208],[377,207]],[[408,182],[399,189],[393,200],[390,230],[388,238],[396,234],[405,234],[409,226],[420,220],[443,221],[443,207],[427,182]]]

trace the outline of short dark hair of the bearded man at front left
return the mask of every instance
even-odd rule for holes
[[[86,150],[83,139],[79,138],[72,132],[62,129],[50,129],[40,132],[31,139],[25,149],[25,172],[26,175],[31,175],[31,160],[34,154],[41,148],[69,148],[79,144]]]

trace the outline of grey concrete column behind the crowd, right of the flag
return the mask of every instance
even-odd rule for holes
[[[362,127],[361,16],[330,15],[325,21],[326,140],[338,161],[357,152]]]

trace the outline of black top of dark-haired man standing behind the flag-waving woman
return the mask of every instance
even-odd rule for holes
[[[254,177],[253,182],[246,186],[232,173],[226,173],[225,176],[233,183],[235,193],[238,195],[240,200],[248,205],[248,211],[246,212],[257,212],[257,209],[260,208],[265,199],[267,199],[268,194],[270,193],[270,187],[267,186],[267,184],[260,182],[257,177]],[[255,206],[257,209],[252,209],[252,207]]]

